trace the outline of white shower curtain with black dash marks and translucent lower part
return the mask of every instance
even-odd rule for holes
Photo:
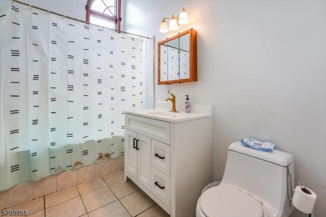
[[[16,4],[0,28],[0,191],[123,154],[147,39]]]

